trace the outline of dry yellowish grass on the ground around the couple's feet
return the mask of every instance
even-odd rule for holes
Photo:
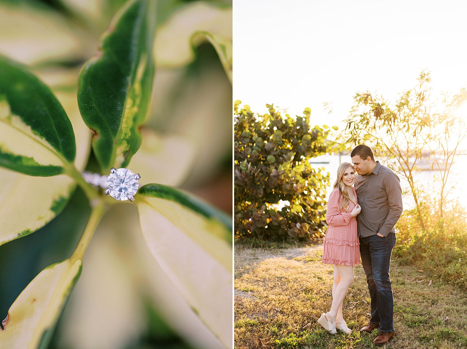
[[[332,266],[321,264],[322,249],[235,246],[236,349],[377,347],[371,342],[375,334],[358,331],[368,323],[370,311],[361,266],[354,267],[355,281],[344,299],[344,319],[354,332],[333,336],[316,322],[331,306],[327,292],[333,282]],[[428,271],[396,262],[391,280],[396,336],[387,349],[467,348],[465,294],[437,280],[428,286]]]

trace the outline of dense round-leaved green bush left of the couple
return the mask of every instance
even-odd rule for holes
[[[234,224],[237,239],[297,240],[322,237],[329,174],[311,167],[328,150],[329,128],[304,116],[283,117],[272,105],[258,115],[235,102]],[[280,200],[289,201],[282,209]]]

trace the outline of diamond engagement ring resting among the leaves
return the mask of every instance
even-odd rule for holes
[[[89,184],[104,188],[106,195],[112,196],[114,199],[125,201],[134,201],[134,194],[139,188],[139,173],[134,174],[132,171],[121,168],[115,170],[110,169],[110,175],[100,176],[98,173],[83,172],[83,178]]]

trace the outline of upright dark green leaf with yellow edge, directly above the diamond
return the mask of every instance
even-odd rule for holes
[[[94,132],[92,147],[103,172],[125,167],[141,145],[139,127],[154,77],[155,3],[128,1],[79,77],[79,110]]]

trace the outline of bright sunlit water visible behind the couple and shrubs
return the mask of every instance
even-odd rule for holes
[[[467,171],[467,155],[457,155],[454,161],[455,162],[453,163],[449,172],[448,183],[445,187],[445,191],[454,186],[448,194],[448,199],[458,199],[460,205],[467,207],[467,187],[462,183],[463,176]],[[329,195],[329,193],[333,190],[332,185],[336,180],[337,168],[339,167],[339,164],[343,162],[352,163],[352,159],[349,155],[323,155],[320,157],[312,158],[311,162],[311,166],[313,168],[324,168],[325,172],[329,172],[331,177],[331,186],[328,187],[327,191],[327,195]],[[326,162],[327,164],[316,164],[318,162]],[[381,161],[381,164],[386,165],[384,161]],[[419,187],[423,188],[426,192],[429,192],[431,195],[437,195],[439,194],[439,189],[441,188],[440,181],[437,180],[437,177],[439,177],[439,171],[425,170],[417,173],[414,176],[414,180],[415,183]],[[407,191],[407,181],[402,178],[402,176],[399,176],[399,179],[401,180],[403,191]],[[414,207],[414,202],[410,193],[403,195],[403,205],[404,209]]]

